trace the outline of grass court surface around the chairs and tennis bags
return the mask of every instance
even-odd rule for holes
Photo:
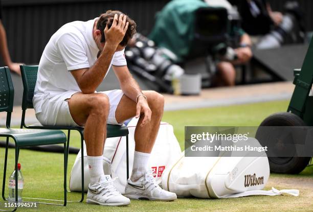
[[[204,108],[164,113],[163,121],[173,125],[175,135],[184,148],[185,126],[258,126],[268,115],[285,111],[287,101],[275,101],[227,107]],[[79,135],[71,133],[71,146],[80,147]],[[4,148],[0,149],[0,167],[3,169]],[[13,149],[9,149],[8,173],[13,171]],[[68,181],[76,155],[69,155]],[[21,150],[19,156],[24,175],[23,197],[62,199],[63,155]],[[1,172],[3,173],[3,172]],[[0,174],[0,181],[2,182]],[[68,183],[69,184],[69,183]],[[6,186],[8,183],[6,184]],[[235,199],[180,198],[174,202],[132,200],[129,206],[104,207],[77,202],[68,202],[66,207],[39,204],[37,209],[19,208],[27,211],[313,211],[313,167],[307,167],[300,175],[272,174],[265,189],[299,189],[299,197],[259,196]],[[7,195],[6,187],[6,195]],[[68,200],[79,200],[80,193],[68,193]],[[0,201],[1,209],[4,201]]]

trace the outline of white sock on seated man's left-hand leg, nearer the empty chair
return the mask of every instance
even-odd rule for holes
[[[101,176],[104,176],[102,156],[87,156],[89,172],[90,172],[90,184],[99,182]]]

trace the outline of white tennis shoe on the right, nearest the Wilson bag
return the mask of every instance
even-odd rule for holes
[[[163,190],[153,177],[152,170],[148,170],[144,176],[136,182],[127,180],[125,197],[130,199],[146,199],[157,201],[173,201],[177,199],[175,193]]]

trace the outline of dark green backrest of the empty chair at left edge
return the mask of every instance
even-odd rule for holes
[[[8,67],[0,67],[0,112],[12,112],[14,88]]]

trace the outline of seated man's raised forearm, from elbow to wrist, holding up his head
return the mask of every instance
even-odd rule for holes
[[[116,46],[106,45],[96,63],[84,72],[79,80],[79,87],[84,93],[93,93],[108,71]]]

